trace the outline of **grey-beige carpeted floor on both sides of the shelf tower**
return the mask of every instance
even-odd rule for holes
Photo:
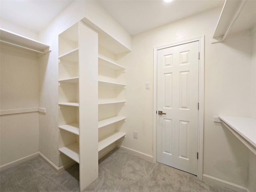
[[[56,174],[35,158],[0,173],[1,192],[78,192],[78,164]],[[115,149],[99,161],[99,177],[83,192],[234,192],[196,176]]]

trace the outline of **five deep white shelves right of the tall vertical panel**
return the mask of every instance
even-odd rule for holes
[[[126,120],[124,114],[118,114],[122,110],[120,109],[122,105],[124,106],[126,103],[124,96],[120,96],[124,92],[126,84],[119,82],[124,80],[122,76],[126,72],[126,68],[102,55],[98,56],[98,67],[98,151],[100,152],[126,135],[119,131],[121,125],[118,124],[118,122]]]

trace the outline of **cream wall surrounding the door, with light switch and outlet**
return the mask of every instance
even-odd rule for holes
[[[211,44],[220,8],[133,36],[132,52],[119,59],[127,67],[126,114],[122,145],[153,154],[153,48],[205,35],[203,173],[247,186],[249,152],[213,116],[250,116],[252,37]],[[151,83],[150,90],[145,82]],[[138,139],[133,131],[138,131]]]

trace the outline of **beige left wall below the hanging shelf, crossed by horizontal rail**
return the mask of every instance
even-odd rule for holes
[[[37,54],[1,43],[0,110],[38,108]],[[38,152],[38,112],[1,115],[1,166]]]

